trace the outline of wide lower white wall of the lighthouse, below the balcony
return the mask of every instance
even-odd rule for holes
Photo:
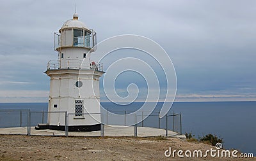
[[[49,112],[68,111],[75,113],[75,100],[83,100],[84,113],[98,113],[93,115],[75,116],[68,115],[68,125],[94,125],[100,123],[100,92],[99,77],[103,74],[92,69],[62,69],[49,70],[51,76]],[[79,75],[79,78],[78,78]],[[76,81],[82,81],[83,86],[76,87]],[[94,91],[94,92],[93,92]],[[57,104],[57,108],[54,108]],[[49,113],[48,123],[50,125],[65,125],[65,113]],[[75,119],[83,118],[83,119]]]

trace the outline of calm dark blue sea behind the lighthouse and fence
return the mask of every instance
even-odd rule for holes
[[[143,102],[133,102],[127,106],[118,106],[111,102],[100,103],[109,111],[134,111]],[[158,113],[163,102],[158,102],[152,115]],[[26,109],[31,111],[47,111],[47,102],[42,103],[0,103],[0,127],[15,127],[20,123],[20,112],[8,112],[8,109],[24,109],[22,120],[26,120]],[[3,112],[5,110],[5,112]],[[2,111],[2,112],[1,112]],[[6,116],[8,113],[8,116]],[[173,102],[170,114],[181,114],[182,134],[191,132],[196,138],[206,134],[216,134],[223,138],[223,148],[228,150],[237,149],[243,153],[256,155],[256,102]],[[41,114],[40,114],[41,115]],[[34,116],[33,123],[37,118],[47,122],[47,115]],[[164,128],[164,120],[161,120],[161,128]],[[178,120],[179,122],[179,120]],[[23,121],[22,126],[26,126]],[[158,127],[157,116],[148,116],[144,127]],[[170,129],[172,129],[170,127]],[[1,129],[0,129],[1,133]]]

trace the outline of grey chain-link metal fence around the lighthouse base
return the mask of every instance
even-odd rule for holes
[[[114,113],[122,116],[122,119]],[[49,128],[51,125],[47,123],[50,114],[56,122],[62,122],[59,130]],[[76,118],[75,115],[76,113],[67,113],[67,111],[0,109],[0,134],[40,136],[172,136],[182,134],[181,113],[168,113],[163,118],[159,118],[158,111],[152,113],[141,111],[140,114],[134,115],[132,115],[132,111],[106,111],[90,115],[83,113],[83,119],[86,122],[97,120],[97,118],[101,119],[100,130],[90,132],[72,130],[74,126],[72,121]],[[138,120],[141,121],[138,122]],[[36,130],[38,125],[44,125],[45,129]]]

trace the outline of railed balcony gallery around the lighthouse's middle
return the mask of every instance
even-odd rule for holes
[[[64,59],[64,60],[50,60],[47,64],[47,70],[52,69],[93,69],[95,71],[102,71],[103,72],[103,66],[102,63],[98,62],[90,62],[90,66],[88,67],[82,67],[83,60],[75,60],[75,59]]]

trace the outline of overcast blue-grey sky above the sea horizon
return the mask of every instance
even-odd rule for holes
[[[75,4],[98,42],[138,34],[159,43],[175,66],[177,101],[256,101],[256,1],[24,0],[0,4],[0,102],[48,101],[54,31]]]

